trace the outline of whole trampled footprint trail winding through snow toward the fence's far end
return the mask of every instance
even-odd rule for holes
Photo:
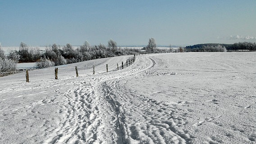
[[[121,73],[123,76],[126,75],[132,75],[132,73],[139,73],[143,72],[145,69],[148,69],[152,66],[152,62],[148,59],[142,59],[146,60],[146,65],[140,66],[138,70],[132,69],[131,72],[124,72]],[[125,141],[129,142],[130,138],[134,138],[134,136],[127,137],[128,135],[131,135],[131,133],[138,132],[137,129],[142,129],[142,127],[137,126],[134,128],[134,126],[137,125],[137,122],[130,125],[127,123],[129,115],[133,115],[133,113],[130,112],[136,112],[140,116],[142,116],[146,122],[147,127],[150,132],[146,133],[146,138],[151,139],[150,137],[158,137],[157,134],[152,134],[152,130],[158,129],[159,135],[162,135],[161,138],[165,139],[166,133],[172,133],[173,135],[177,135],[176,133],[179,133],[175,139],[178,141],[185,142],[186,139],[189,139],[187,135],[184,132],[181,132],[182,130],[179,130],[179,132],[175,129],[175,122],[173,121],[166,121],[165,117],[161,118],[161,114],[165,114],[166,117],[170,117],[169,109],[162,108],[162,106],[155,104],[154,102],[149,103],[133,103],[133,99],[137,96],[134,94],[133,97],[127,97],[127,96],[118,96],[115,97],[114,103],[117,104],[119,113],[121,115],[121,123],[123,131],[115,132],[117,127],[117,118],[115,115],[115,110],[113,108],[113,103],[110,102],[110,99],[106,94],[102,93],[102,90],[105,89],[104,86],[102,88],[102,83],[105,80],[108,80],[110,78],[112,79],[118,79],[119,76],[109,76],[109,77],[101,77],[98,79],[91,79],[91,82],[96,82],[94,85],[92,85],[89,82],[81,82],[80,84],[75,84],[74,89],[65,90],[66,92],[62,93],[60,90],[55,90],[56,93],[61,94],[64,96],[66,101],[62,105],[62,108],[60,108],[59,113],[63,115],[63,119],[60,119],[58,121],[59,127],[57,128],[51,128],[50,126],[46,128],[46,134],[45,136],[48,137],[44,141],[45,144],[63,144],[63,143],[101,143],[107,139],[114,139],[117,143],[122,142],[122,139],[126,139]],[[112,93],[114,90],[118,90],[119,87],[117,87],[117,83],[112,83],[112,88],[107,87],[108,90]],[[96,90],[100,89],[101,90]],[[128,91],[128,90],[125,90]],[[115,93],[116,91],[114,91]],[[96,94],[97,93],[97,94]],[[114,94],[112,93],[112,94]],[[118,94],[122,94],[122,92],[119,92]],[[127,99],[129,98],[129,99]],[[145,100],[145,98],[140,98],[141,100]],[[44,102],[52,102],[54,99],[48,99]],[[106,102],[106,103],[102,103]],[[123,104],[123,102],[126,103],[126,105]],[[107,104],[108,107],[104,106],[103,104]],[[149,105],[148,105],[149,104]],[[100,108],[98,107],[100,106]],[[123,108],[122,108],[123,107]],[[125,112],[126,109],[131,108],[132,110],[129,112]],[[159,113],[152,116],[151,111],[146,111],[146,113],[142,113],[141,110],[136,108],[143,108],[143,109],[150,109],[150,108],[158,108]],[[151,109],[152,110],[152,109]],[[173,112],[173,111],[171,111]],[[112,117],[113,116],[113,117]],[[109,119],[109,117],[112,117],[112,120]],[[152,121],[152,117],[158,119],[159,121]],[[127,120],[125,120],[127,118]],[[174,118],[175,119],[175,118]],[[178,117],[177,117],[178,119]],[[104,121],[104,122],[102,122]],[[108,124],[105,124],[106,121],[108,121]],[[180,118],[178,121],[183,121],[183,118]],[[49,121],[46,121],[46,125]],[[184,122],[180,122],[184,123]],[[105,125],[104,125],[105,124]],[[110,126],[109,126],[110,125]],[[113,132],[110,132],[111,130]],[[107,130],[107,131],[105,131]],[[118,133],[118,134],[117,134]],[[118,137],[118,138],[116,138]],[[120,138],[121,137],[121,138]],[[152,138],[154,139],[154,138]],[[167,139],[167,138],[166,138]],[[174,141],[175,141],[174,139]],[[143,141],[143,140],[142,140]],[[112,143],[113,141],[111,141]],[[157,141],[155,141],[157,142]]]

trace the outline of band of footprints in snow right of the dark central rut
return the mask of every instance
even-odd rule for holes
[[[185,144],[193,138],[182,129],[187,124],[186,116],[178,113],[169,103],[138,96],[136,92],[119,86],[118,81],[108,85],[107,89],[111,91],[121,113],[123,137],[128,143]]]

